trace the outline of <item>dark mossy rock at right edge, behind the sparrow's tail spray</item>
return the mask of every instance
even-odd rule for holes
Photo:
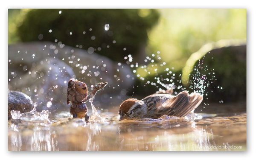
[[[192,70],[189,79],[195,78],[197,71],[205,75],[209,87],[204,98],[224,102],[246,99],[246,45],[213,49],[195,63],[194,69],[199,63],[202,69]]]

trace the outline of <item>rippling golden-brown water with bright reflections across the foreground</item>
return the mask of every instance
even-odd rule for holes
[[[246,150],[245,113],[118,121],[117,115],[103,112],[104,121],[90,123],[68,113],[58,115],[44,121],[10,119],[9,151]]]

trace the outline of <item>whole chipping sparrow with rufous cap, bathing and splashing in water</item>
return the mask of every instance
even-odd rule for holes
[[[129,98],[119,107],[119,121],[123,119],[160,118],[162,115],[183,117],[193,111],[203,101],[199,93],[180,92],[174,96],[166,91],[148,95],[142,100]]]

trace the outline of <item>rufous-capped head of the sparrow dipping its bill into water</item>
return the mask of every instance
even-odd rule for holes
[[[119,107],[119,121],[124,119],[137,119],[141,116],[144,102],[135,98],[129,98],[122,102]]]

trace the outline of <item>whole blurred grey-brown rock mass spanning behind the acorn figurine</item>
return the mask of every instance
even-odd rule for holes
[[[89,93],[91,85],[108,82],[108,86],[98,92],[93,101],[96,108],[120,104],[135,82],[128,65],[113,62],[95,52],[90,54],[82,49],[65,46],[61,42],[9,45],[8,52],[9,88],[31,96],[34,102],[38,102],[37,109],[40,110],[70,107],[65,104],[67,83],[64,83],[70,78],[85,82]],[[52,104],[51,107],[48,108],[47,103],[48,106]]]

